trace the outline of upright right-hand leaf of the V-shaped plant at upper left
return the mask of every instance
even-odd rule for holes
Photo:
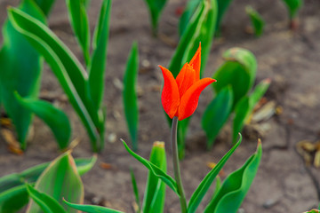
[[[110,13],[111,0],[103,0],[93,35],[92,63],[88,67],[90,95],[96,110],[100,109],[104,91]]]

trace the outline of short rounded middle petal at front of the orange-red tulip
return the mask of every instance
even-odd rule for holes
[[[176,78],[176,83],[179,88],[180,97],[188,91],[188,89],[196,82],[196,71],[193,67],[186,63],[180,70]]]

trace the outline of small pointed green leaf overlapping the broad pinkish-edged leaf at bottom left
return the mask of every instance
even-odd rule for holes
[[[67,213],[60,203],[54,200],[51,196],[46,193],[40,193],[31,185],[26,185],[27,191],[33,201],[44,211],[44,213]]]

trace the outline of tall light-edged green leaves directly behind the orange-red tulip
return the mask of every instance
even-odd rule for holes
[[[200,42],[202,48],[200,69],[201,77],[212,47],[217,14],[216,0],[204,0],[195,10],[196,12],[188,21],[185,32],[180,38],[180,42],[178,43],[176,51],[173,53],[169,65],[169,70],[172,72],[174,77],[179,74],[180,68],[184,63],[192,59],[192,56],[196,52]],[[168,121],[170,123],[172,122],[169,117]],[[184,119],[183,121],[180,121],[178,125],[178,149],[180,159],[182,159],[185,154],[185,140],[188,132],[189,121],[190,118]]]

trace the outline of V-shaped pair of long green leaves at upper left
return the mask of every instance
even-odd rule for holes
[[[28,42],[52,67],[71,105],[84,123],[91,138],[93,151],[100,151],[104,146],[105,113],[104,109],[100,108],[100,102],[104,90],[110,0],[104,0],[102,3],[100,20],[95,30],[94,45],[92,45],[94,65],[89,67],[89,77],[73,53],[49,28],[19,9],[10,8],[8,12],[14,28],[28,38]],[[81,32],[83,31],[84,29],[81,28]],[[80,35],[78,31],[77,35]],[[96,82],[93,83],[93,81]]]

